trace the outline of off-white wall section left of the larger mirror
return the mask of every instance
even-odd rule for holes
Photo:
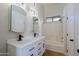
[[[17,33],[9,31],[9,7],[10,4],[0,4],[0,53],[6,53],[6,40],[16,38]]]

